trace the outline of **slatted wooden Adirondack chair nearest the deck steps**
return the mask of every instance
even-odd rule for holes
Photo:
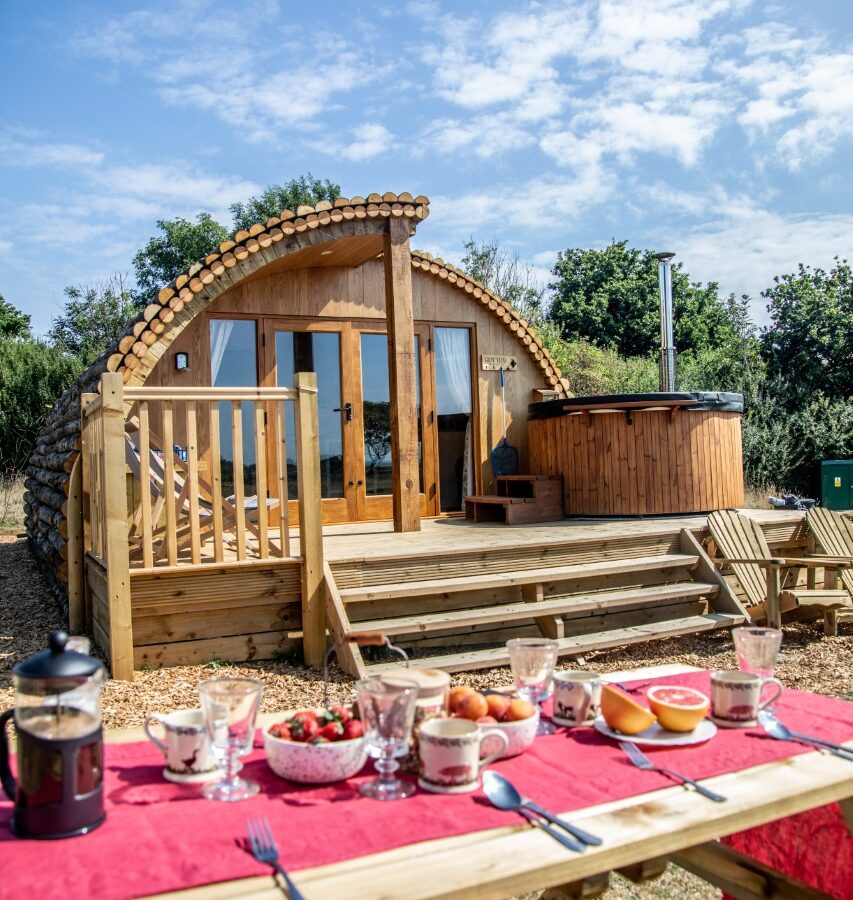
[[[751,519],[731,509],[717,510],[708,517],[708,528],[721,555],[731,566],[746,594],[749,606],[765,609],[767,624],[779,628],[782,613],[797,607],[811,607],[823,613],[824,631],[832,627],[834,617],[827,613],[853,607],[847,590],[801,588],[791,576],[801,569],[823,569],[826,581],[850,563],[835,557],[778,557],[770,552],[763,532]]]

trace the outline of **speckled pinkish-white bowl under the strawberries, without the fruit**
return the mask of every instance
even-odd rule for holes
[[[363,737],[328,744],[301,744],[264,732],[269,767],[281,778],[301,784],[328,784],[352,778],[367,761]]]

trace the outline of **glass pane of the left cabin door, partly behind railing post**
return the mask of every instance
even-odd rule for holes
[[[320,495],[324,500],[344,498],[344,443],[341,402],[341,336],[336,331],[276,331],[276,381],[293,387],[296,372],[316,372],[320,436]],[[288,416],[287,488],[297,493],[296,423]]]

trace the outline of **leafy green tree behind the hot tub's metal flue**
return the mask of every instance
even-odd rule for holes
[[[586,338],[624,356],[660,347],[658,264],[650,250],[613,241],[604,250],[570,249],[557,256],[549,311],[568,341]],[[713,282],[692,283],[681,265],[672,269],[675,345],[679,352],[719,347],[738,336]]]

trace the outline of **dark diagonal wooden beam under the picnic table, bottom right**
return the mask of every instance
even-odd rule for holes
[[[826,897],[820,891],[765,866],[725,844],[709,841],[680,850],[672,862],[721,888],[737,900],[764,900],[767,897],[811,900]]]

